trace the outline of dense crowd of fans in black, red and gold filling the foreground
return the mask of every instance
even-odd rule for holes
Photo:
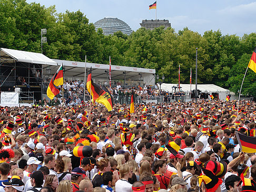
[[[256,191],[256,103],[1,107],[0,191]]]

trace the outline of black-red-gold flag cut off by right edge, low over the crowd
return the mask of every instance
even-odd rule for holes
[[[248,137],[239,132],[235,132],[237,135],[240,148],[245,153],[256,153],[256,137]]]

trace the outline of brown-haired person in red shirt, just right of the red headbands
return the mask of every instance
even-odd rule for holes
[[[160,188],[167,189],[170,183],[170,178],[164,176],[164,174],[166,173],[165,160],[156,160],[154,164],[154,170],[156,171],[156,174],[154,174],[154,176],[159,180]]]

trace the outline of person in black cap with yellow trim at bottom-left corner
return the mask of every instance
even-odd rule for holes
[[[24,183],[17,175],[12,176],[11,180],[2,182],[2,185],[5,187],[4,190],[6,192],[21,192],[24,189]]]

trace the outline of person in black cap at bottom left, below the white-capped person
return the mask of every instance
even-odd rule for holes
[[[44,175],[40,170],[35,170],[32,174],[31,174],[31,185],[32,188],[29,188],[26,192],[38,192],[40,191],[43,187],[43,183],[44,183]]]

